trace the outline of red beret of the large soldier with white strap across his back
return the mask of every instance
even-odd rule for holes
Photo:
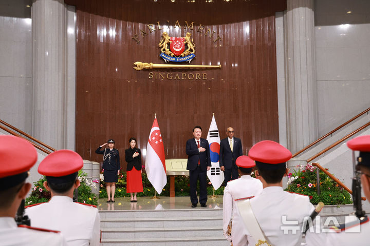
[[[287,148],[277,142],[264,140],[253,145],[248,156],[259,162],[278,164],[288,161],[292,155]]]

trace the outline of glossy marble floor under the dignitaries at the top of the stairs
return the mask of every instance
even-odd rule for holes
[[[158,198],[158,197],[157,197]],[[222,209],[223,208],[223,196],[217,196],[216,198],[208,198],[207,208],[198,206],[191,208],[191,202],[189,196],[160,196],[159,199],[152,199],[149,196],[138,197],[137,202],[130,202],[130,197],[118,197],[115,198],[114,203],[106,202],[106,198],[98,200],[97,208],[99,210],[172,210],[172,209]]]

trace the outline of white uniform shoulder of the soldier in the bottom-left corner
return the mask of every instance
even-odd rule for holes
[[[17,227],[14,218],[0,217],[0,245],[67,246],[61,233]]]

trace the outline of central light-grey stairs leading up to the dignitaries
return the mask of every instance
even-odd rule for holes
[[[222,209],[99,211],[102,245],[230,245]]]

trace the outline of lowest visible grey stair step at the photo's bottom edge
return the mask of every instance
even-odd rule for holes
[[[135,245],[135,246],[188,246],[202,245],[202,246],[227,246],[230,242],[222,236],[215,237],[173,237],[173,238],[109,238],[102,239],[102,246],[110,245]]]

